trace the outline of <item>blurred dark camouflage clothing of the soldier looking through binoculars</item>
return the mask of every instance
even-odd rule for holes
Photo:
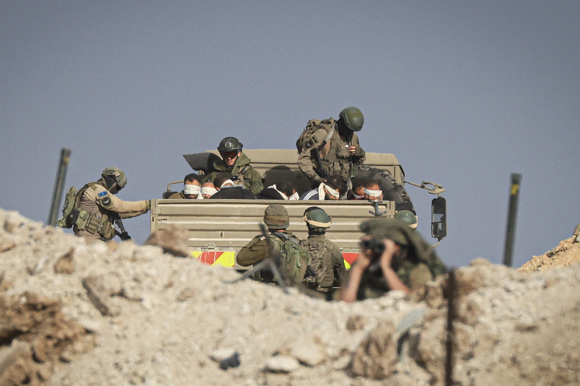
[[[445,266],[433,248],[407,223],[397,219],[374,219],[360,225],[361,231],[376,239],[390,239],[407,250],[403,262],[394,267],[397,276],[410,289],[415,289],[445,273]],[[371,265],[362,274],[357,300],[380,297],[390,288],[380,267]]]

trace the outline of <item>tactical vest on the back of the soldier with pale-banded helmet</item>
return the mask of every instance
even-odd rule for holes
[[[306,283],[320,291],[332,289],[334,283],[334,264],[332,260],[332,243],[324,238],[307,239],[303,241],[308,250],[308,265],[316,272],[316,276],[307,276]]]

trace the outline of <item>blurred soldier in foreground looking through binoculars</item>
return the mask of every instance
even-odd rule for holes
[[[409,293],[445,273],[432,247],[404,221],[374,219],[360,228],[367,236],[361,240],[342,300],[380,297],[390,290]]]

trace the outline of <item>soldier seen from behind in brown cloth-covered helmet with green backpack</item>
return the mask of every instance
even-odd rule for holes
[[[264,223],[269,233],[256,236],[248,245],[242,247],[235,260],[242,267],[256,264],[269,257],[271,252],[280,253],[285,267],[282,267],[295,284],[302,282],[308,266],[308,253],[300,244],[300,239],[286,229],[290,218],[286,208],[280,204],[272,204],[264,210]],[[253,276],[256,281],[273,282],[270,270],[261,270]]]

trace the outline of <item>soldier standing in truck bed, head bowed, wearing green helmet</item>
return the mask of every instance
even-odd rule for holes
[[[358,165],[365,161],[365,151],[356,134],[364,123],[362,112],[356,107],[347,107],[340,111],[339,117],[338,121],[311,119],[296,142],[298,167],[314,183],[323,183],[333,173],[345,177],[349,183]]]

